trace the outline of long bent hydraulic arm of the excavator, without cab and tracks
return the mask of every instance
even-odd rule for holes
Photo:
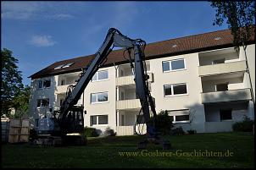
[[[84,69],[75,87],[73,87],[72,90],[67,93],[67,96],[59,109],[58,122],[60,129],[64,129],[64,123],[66,123],[65,120],[70,112],[70,109],[74,107],[74,105],[77,103],[77,101],[81,97],[81,94],[86,89],[86,86],[89,84],[90,80],[92,80],[92,76],[97,72],[97,69],[99,69],[104,64],[109,53],[112,52],[113,47],[122,47],[125,48],[127,51],[132,51],[134,53],[135,67],[133,66],[131,60],[130,63],[135,73],[136,95],[140,99],[142,105],[143,117],[147,124],[148,139],[154,141],[158,140],[155,127],[156,111],[153,103],[153,98],[150,95],[150,91],[148,90],[147,85],[148,75],[144,56],[145,45],[146,42],[142,41],[141,39],[133,40],[127,36],[122,35],[119,30],[110,28],[105,40],[103,41],[103,45],[95,54],[95,58],[93,58],[91,63],[89,63],[88,66]],[[153,112],[153,125],[149,124],[149,106],[151,108],[151,111]],[[144,142],[142,142],[142,145],[147,144],[147,142],[148,140],[145,140]],[[142,148],[144,148],[144,146],[142,146]]]

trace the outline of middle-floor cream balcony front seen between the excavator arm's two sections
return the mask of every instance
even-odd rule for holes
[[[139,99],[116,101],[116,109],[119,109],[119,110],[140,108],[140,107],[142,106]]]

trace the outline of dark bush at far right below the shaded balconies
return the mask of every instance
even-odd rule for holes
[[[253,123],[253,120],[248,118],[248,116],[244,116],[241,122],[232,125],[232,129],[240,132],[253,132]]]

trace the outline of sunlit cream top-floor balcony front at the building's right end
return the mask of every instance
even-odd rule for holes
[[[214,65],[199,66],[198,73],[200,77],[210,76],[216,74],[229,74],[234,72],[245,72],[245,61],[231,62],[231,63],[219,63]]]

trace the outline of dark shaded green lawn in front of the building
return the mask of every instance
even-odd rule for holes
[[[172,144],[170,151],[162,151],[160,145],[148,145],[147,151],[138,151],[136,145],[142,138],[136,135],[90,138],[86,146],[55,148],[28,144],[2,145],[2,167],[254,167],[252,133],[165,136]],[[206,150],[229,151],[233,155],[191,154]],[[127,156],[125,151],[138,155]],[[165,155],[153,155],[156,151]],[[178,154],[175,155],[176,152]],[[181,153],[184,155],[181,156]]]

